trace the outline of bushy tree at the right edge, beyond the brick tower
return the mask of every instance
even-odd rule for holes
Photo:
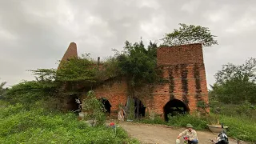
[[[249,58],[242,65],[228,63],[215,74],[216,83],[210,94],[220,102],[238,104],[256,103],[256,58]]]

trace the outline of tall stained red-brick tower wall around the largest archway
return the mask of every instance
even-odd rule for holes
[[[163,78],[169,82],[158,86],[157,90],[162,93],[154,94],[155,111],[163,114],[162,107],[171,99],[184,102],[190,112],[198,109],[198,102],[208,105],[201,44],[159,47],[157,56]],[[209,107],[206,111],[209,112]]]

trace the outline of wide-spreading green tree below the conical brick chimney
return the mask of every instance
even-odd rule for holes
[[[62,101],[67,96],[80,95],[85,88],[91,88],[98,82],[97,66],[94,66],[89,54],[62,62],[59,70],[30,71],[35,76],[34,81],[20,82],[7,90],[6,98],[11,102],[21,102],[30,106],[38,100],[47,98]],[[60,109],[62,106],[62,103],[59,103]]]

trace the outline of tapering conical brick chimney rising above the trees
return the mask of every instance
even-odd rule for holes
[[[78,58],[77,44],[74,42],[71,42],[70,46],[67,48],[66,53],[63,55],[62,60],[58,65],[58,69],[60,68],[62,62],[65,62],[70,58]]]

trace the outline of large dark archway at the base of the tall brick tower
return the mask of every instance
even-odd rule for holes
[[[163,107],[163,110],[166,121],[169,120],[168,114],[175,116],[178,114],[186,114],[186,112],[188,112],[187,106],[178,99],[173,99],[167,102],[166,106]]]

